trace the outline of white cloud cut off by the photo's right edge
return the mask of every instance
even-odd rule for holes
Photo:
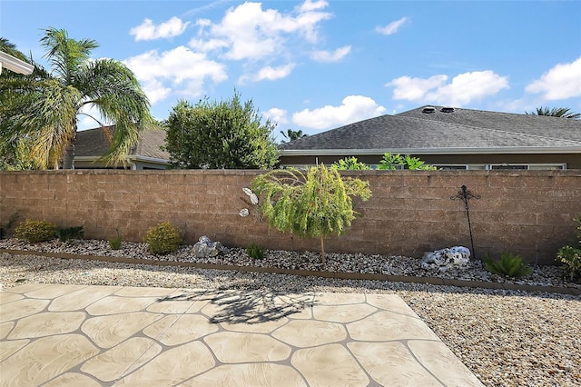
[[[552,101],[581,96],[581,56],[570,64],[558,64],[527,85],[528,93],[542,93]]]

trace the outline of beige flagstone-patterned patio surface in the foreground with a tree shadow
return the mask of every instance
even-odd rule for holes
[[[482,385],[394,294],[30,283],[0,292],[0,385],[41,384]]]

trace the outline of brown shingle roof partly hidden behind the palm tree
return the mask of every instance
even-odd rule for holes
[[[165,145],[165,132],[162,130],[145,130],[140,134],[139,141],[129,152],[130,160],[169,164],[170,154],[161,149]],[[99,159],[109,150],[109,140],[102,128],[78,131],[74,144],[75,159]]]

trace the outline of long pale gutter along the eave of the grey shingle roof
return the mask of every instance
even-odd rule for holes
[[[504,148],[383,148],[383,149],[283,149],[281,156],[324,156],[360,154],[581,154],[581,146],[546,148],[515,146]]]

